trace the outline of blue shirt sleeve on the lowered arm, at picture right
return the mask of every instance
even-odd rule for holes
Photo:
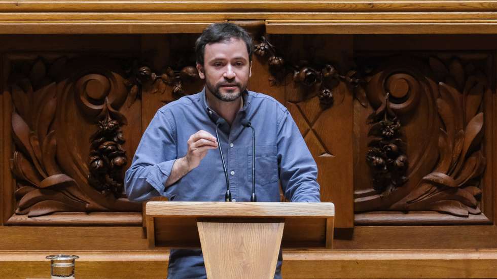
[[[319,202],[316,163],[287,109],[278,117],[277,148],[285,197],[292,202]]]

